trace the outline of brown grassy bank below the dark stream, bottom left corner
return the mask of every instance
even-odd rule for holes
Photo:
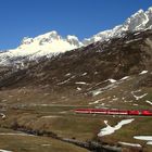
[[[0,129],[0,132],[12,132]],[[15,152],[87,152],[87,150],[47,137],[0,136],[0,149]]]

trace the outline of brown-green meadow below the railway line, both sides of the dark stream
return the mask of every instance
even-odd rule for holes
[[[0,122],[0,149],[15,152],[87,151],[51,137],[22,135],[15,131],[20,127],[27,130],[53,132],[55,136],[78,141],[100,141],[103,145],[122,147],[123,151],[129,149],[129,151],[151,152],[152,145],[147,144],[148,141],[134,138],[135,136],[152,136],[151,117],[76,114],[74,113],[76,107],[76,105],[35,105],[9,109],[4,112],[5,118]],[[105,121],[109,122],[111,128],[124,119],[132,119],[132,122],[122,125],[114,132],[98,137],[100,130],[106,127]],[[140,147],[136,147],[136,144],[140,144]]]

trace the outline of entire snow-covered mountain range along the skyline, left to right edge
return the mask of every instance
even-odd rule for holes
[[[36,60],[41,56],[52,56],[61,52],[88,46],[97,41],[104,41],[114,37],[123,37],[127,31],[140,31],[152,29],[152,8],[148,11],[139,10],[127,18],[124,24],[113,29],[101,31],[91,38],[84,39],[83,42],[76,36],[62,38],[55,30],[35,38],[25,37],[16,49],[0,53],[0,64],[9,65],[21,63],[24,59]]]

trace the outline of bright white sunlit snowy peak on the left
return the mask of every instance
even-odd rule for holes
[[[28,58],[34,60],[40,56],[46,56],[59,52],[64,52],[81,47],[78,38],[75,36],[67,36],[62,38],[56,31],[50,31],[45,35],[37,36],[35,38],[25,37],[21,46],[16,49],[2,52],[0,54],[0,64],[9,64],[13,60],[20,58]]]

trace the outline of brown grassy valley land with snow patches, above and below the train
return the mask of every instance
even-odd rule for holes
[[[106,86],[101,83],[96,88],[83,88],[73,97],[68,91],[63,96],[38,87],[0,90],[0,150],[89,151],[60,138],[85,143],[94,141],[123,152],[151,152],[151,116],[75,113],[76,109],[89,107],[151,110],[152,89],[132,87],[135,80],[135,76],[117,81],[111,79]],[[18,130],[38,136],[21,135]],[[145,136],[148,140],[143,139]]]

